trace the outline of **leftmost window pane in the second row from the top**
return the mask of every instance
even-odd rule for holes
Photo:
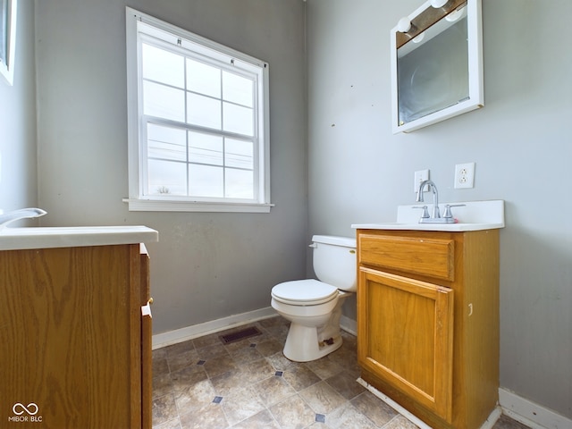
[[[143,112],[150,116],[184,122],[184,97],[181,89],[143,81]]]

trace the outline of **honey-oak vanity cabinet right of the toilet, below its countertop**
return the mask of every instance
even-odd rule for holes
[[[434,428],[477,429],[499,390],[499,231],[357,230],[362,379]]]

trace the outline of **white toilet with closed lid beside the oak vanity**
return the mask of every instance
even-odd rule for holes
[[[291,322],[284,356],[296,362],[341,347],[341,306],[357,290],[355,239],[315,235],[310,247],[319,280],[283,282],[272,289],[272,307]]]

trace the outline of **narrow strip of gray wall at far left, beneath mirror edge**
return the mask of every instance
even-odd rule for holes
[[[36,206],[36,83],[34,8],[20,2],[14,81],[0,77],[0,209]]]

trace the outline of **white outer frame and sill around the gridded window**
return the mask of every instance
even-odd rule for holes
[[[130,211],[175,212],[242,212],[269,213],[270,203],[270,131],[269,131],[269,66],[257,58],[242,54],[185,29],[160,21],[145,13],[126,7],[127,105]],[[258,115],[256,120],[257,147],[254,154],[255,198],[192,198],[181,196],[145,195],[144,175],[147,163],[147,137],[142,118],[142,94],[139,80],[139,39],[156,38],[173,46],[191,47],[201,54],[224,62],[239,64],[245,70],[261,74],[257,85]]]

